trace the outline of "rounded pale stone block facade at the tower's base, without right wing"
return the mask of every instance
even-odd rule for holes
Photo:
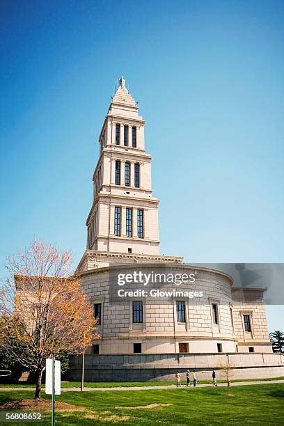
[[[147,288],[149,293],[150,287],[128,283],[121,287],[134,292],[134,296],[117,297],[121,289],[118,274],[132,274],[141,268],[143,273],[149,274],[153,271],[166,276],[191,274],[195,281],[156,285],[161,292],[175,290],[173,295],[160,298],[137,292]],[[100,305],[100,324],[97,326],[100,340],[93,342],[95,353],[237,352],[238,340],[242,338],[236,333],[239,311],[234,309],[232,278],[221,271],[190,265],[113,265],[84,271],[81,285],[91,303]],[[184,297],[189,290],[202,294],[202,297]],[[134,306],[140,309],[139,322],[134,318]]]

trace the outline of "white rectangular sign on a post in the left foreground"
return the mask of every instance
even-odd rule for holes
[[[61,395],[61,365],[60,361],[55,361],[55,354],[52,354],[52,359],[45,360],[45,393],[52,395],[52,426],[54,426],[55,395]]]

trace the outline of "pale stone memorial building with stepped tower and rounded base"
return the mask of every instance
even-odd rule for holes
[[[159,254],[159,199],[152,194],[152,157],[145,152],[144,125],[122,77],[100,132],[93,202],[86,219],[87,248],[77,268],[100,332],[100,340],[88,352],[271,353],[265,290],[235,287],[223,271]],[[131,274],[139,268],[149,273],[191,274],[195,279],[190,290],[203,297],[183,297],[189,283],[164,283],[160,290],[175,287],[178,295],[159,298],[137,292],[131,299],[112,299],[114,277],[125,269]]]

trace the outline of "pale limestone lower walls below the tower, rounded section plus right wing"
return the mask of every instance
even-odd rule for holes
[[[139,265],[127,265],[127,271]],[[149,271],[155,265],[144,266]],[[202,291],[203,298],[193,301],[186,297],[155,299],[148,297],[111,301],[111,275],[124,271],[125,265],[90,269],[81,274],[81,283],[91,303],[99,303],[100,340],[94,342],[99,354],[133,354],[135,345],[141,345],[143,354],[216,352],[271,352],[262,300],[251,302],[235,300],[232,278],[219,271],[190,267],[189,265],[164,265],[163,271],[172,274],[175,270],[196,274],[190,290]],[[113,285],[116,285],[114,283]],[[164,285],[162,290],[172,290]],[[136,290],[133,286],[132,290]],[[178,290],[188,290],[181,284]],[[250,292],[243,290],[242,294]],[[263,290],[258,292],[262,299]],[[256,297],[255,297],[256,298]],[[134,323],[133,305],[142,303],[142,321]],[[177,302],[184,303],[184,322],[179,322]],[[212,303],[217,306],[217,324],[214,322]],[[249,316],[251,332],[245,331],[244,315]],[[250,349],[251,348],[251,349]],[[92,352],[93,348],[90,348]]]

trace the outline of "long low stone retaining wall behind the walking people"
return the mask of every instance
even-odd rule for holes
[[[199,380],[210,380],[212,368],[224,379],[222,366],[232,366],[231,379],[264,379],[284,376],[282,354],[132,354],[86,355],[86,381],[164,381],[175,379],[175,371],[196,370]],[[81,356],[70,358],[65,379],[81,379]]]

